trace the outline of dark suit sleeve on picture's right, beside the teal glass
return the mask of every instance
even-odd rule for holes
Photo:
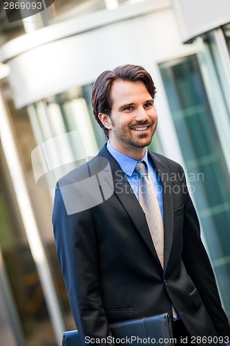
[[[186,183],[185,183],[186,185]],[[218,293],[215,276],[200,238],[200,224],[188,190],[184,200],[184,235],[182,259],[200,293],[219,336],[230,337],[230,327]]]

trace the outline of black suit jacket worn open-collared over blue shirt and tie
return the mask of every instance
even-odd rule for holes
[[[106,146],[57,184],[53,210],[57,255],[82,342],[85,336],[111,336],[111,322],[171,313],[171,303],[191,335],[230,336],[182,167],[160,154],[149,156],[163,184],[164,271],[140,203]],[[104,201],[75,212],[87,190],[86,184],[76,185],[86,176],[99,181],[98,162],[103,170],[105,159],[114,193],[111,190],[111,197],[104,198],[100,183]],[[105,171],[109,175],[108,166]],[[60,188],[66,186],[67,194]],[[73,205],[69,215],[67,199]]]

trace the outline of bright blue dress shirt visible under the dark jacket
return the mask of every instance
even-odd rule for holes
[[[118,152],[114,147],[112,147],[109,140],[107,143],[107,149],[108,152],[110,152],[110,154],[115,158],[119,166],[122,168],[122,171],[126,175],[126,179],[128,180],[128,183],[130,183],[131,188],[133,189],[133,192],[135,193],[137,199],[140,175],[137,172],[135,172],[135,167],[137,165],[137,162],[145,163],[146,171],[155,188],[157,201],[160,206],[160,212],[162,214],[162,219],[164,220],[162,181],[160,181],[157,171],[155,170],[155,167],[153,165],[153,162],[148,158],[148,149],[146,149],[144,157],[140,161],[137,161],[134,158],[131,158]]]

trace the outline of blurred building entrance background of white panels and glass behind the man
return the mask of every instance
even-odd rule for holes
[[[153,76],[151,149],[184,167],[230,317],[229,1],[55,0],[12,22],[2,1],[0,46],[1,345],[61,345],[75,329],[52,235],[55,178],[39,178],[104,145],[90,89],[121,64]]]

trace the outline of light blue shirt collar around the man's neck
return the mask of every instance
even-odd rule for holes
[[[144,163],[146,163],[146,170],[148,173],[148,149],[147,148],[143,158],[140,161],[137,161],[134,158],[126,156],[122,154],[121,152],[118,152],[117,149],[112,147],[109,140],[107,142],[107,149],[108,149],[108,152],[110,152],[111,155],[115,158],[119,166],[122,168],[122,171],[126,175],[131,176],[133,174],[133,171],[135,170],[137,162],[143,162],[143,161]]]

